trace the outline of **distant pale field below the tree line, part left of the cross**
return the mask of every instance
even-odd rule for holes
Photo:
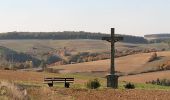
[[[103,52],[109,50],[109,43],[101,40],[0,40],[0,45],[18,52],[26,52],[33,47],[39,47],[38,49],[46,51],[64,47],[75,49],[78,52]]]

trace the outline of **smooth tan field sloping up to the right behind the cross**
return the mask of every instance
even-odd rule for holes
[[[142,72],[149,69],[149,66],[147,66],[148,64],[150,64],[152,68],[157,67],[159,63],[157,65],[154,65],[154,63],[152,64],[147,62],[151,55],[152,55],[151,53],[141,53],[116,58],[115,60],[116,71],[124,73]],[[170,52],[168,51],[158,52],[157,55],[158,57],[166,58],[170,56]],[[60,70],[59,71],[60,73],[102,72],[102,71],[108,72],[110,68],[110,60],[85,62],[71,65],[61,65],[50,68],[58,69]]]

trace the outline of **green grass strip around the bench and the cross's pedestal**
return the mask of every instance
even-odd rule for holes
[[[94,75],[86,75],[86,74],[75,73],[75,74],[59,74],[59,77],[74,77],[75,79],[82,79],[82,80],[86,80],[86,81],[98,78],[100,83],[101,83],[100,89],[104,89],[107,86],[106,78],[97,77],[97,76],[94,76]],[[86,89],[85,84],[86,83],[83,83],[83,84],[74,83],[74,84],[71,84],[71,88]],[[124,89],[125,84],[126,84],[125,82],[119,82],[119,87],[118,88],[119,89]],[[160,85],[144,84],[144,83],[134,83],[134,85],[135,85],[135,89],[170,90],[170,86],[160,86]],[[62,88],[62,87],[64,87],[64,84],[63,83],[62,84],[55,84],[54,87]]]

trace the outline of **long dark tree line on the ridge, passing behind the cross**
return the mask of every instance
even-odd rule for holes
[[[117,34],[118,35],[118,34]],[[127,43],[147,43],[144,37],[120,35],[124,37],[122,42]],[[0,39],[96,39],[101,40],[102,37],[110,37],[110,34],[92,33],[84,31],[64,31],[64,32],[7,32],[0,34]]]

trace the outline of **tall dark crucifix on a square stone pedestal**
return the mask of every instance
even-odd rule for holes
[[[111,68],[107,75],[107,87],[118,88],[118,75],[115,72],[115,42],[123,40],[121,36],[115,36],[115,29],[111,28],[111,37],[102,37],[102,40],[111,42]]]

